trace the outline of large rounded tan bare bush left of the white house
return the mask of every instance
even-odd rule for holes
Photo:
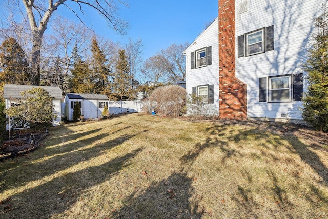
[[[151,106],[162,116],[178,117],[186,105],[186,89],[179,85],[156,88],[150,95]]]

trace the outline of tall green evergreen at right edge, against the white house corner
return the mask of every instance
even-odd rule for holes
[[[313,33],[313,45],[309,50],[305,70],[309,73],[309,91],[303,98],[303,118],[317,130],[328,132],[328,14],[315,19],[317,33]]]

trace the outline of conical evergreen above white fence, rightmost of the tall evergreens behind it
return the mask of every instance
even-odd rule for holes
[[[128,63],[128,57],[125,54],[125,50],[119,50],[118,61],[116,64],[116,71],[114,74],[114,93],[123,99],[123,96],[130,96],[131,90],[130,81],[132,77],[129,74],[130,67]]]

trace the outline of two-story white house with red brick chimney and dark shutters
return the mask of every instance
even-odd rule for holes
[[[323,2],[219,0],[218,19],[185,51],[187,93],[207,96],[221,118],[301,120],[302,64]]]

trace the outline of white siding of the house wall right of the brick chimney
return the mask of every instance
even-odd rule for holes
[[[243,1],[236,0],[236,11],[240,10],[240,3]],[[321,10],[323,2],[323,0],[288,2],[272,0],[267,4],[259,4],[257,1],[249,1],[247,12],[236,13],[236,77],[247,84],[248,117],[302,119],[301,101],[291,99],[289,102],[270,102],[268,94],[268,101],[259,102],[259,78],[303,72],[302,64],[311,43],[311,33],[317,31],[313,21],[323,12]],[[272,25],[274,25],[274,50],[237,58],[237,36]],[[306,78],[305,72],[304,78]],[[304,81],[304,91],[306,91],[305,85]]]

